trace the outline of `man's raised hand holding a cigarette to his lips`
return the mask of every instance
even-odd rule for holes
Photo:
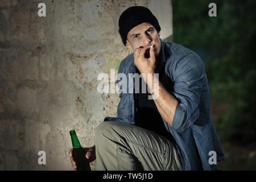
[[[149,50],[149,58],[145,57]],[[154,47],[146,46],[143,48],[136,48],[134,51],[134,64],[139,69],[141,73],[154,73],[155,69],[155,52]]]

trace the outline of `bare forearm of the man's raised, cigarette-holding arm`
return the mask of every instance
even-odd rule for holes
[[[147,78],[146,82],[148,88],[150,88],[152,97],[154,98],[155,105],[158,108],[160,115],[170,126],[172,126],[178,101],[167,92],[154,74],[152,74],[152,79]]]

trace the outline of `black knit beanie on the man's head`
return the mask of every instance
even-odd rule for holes
[[[158,19],[151,13],[149,9],[143,6],[132,6],[123,11],[119,18],[119,34],[122,42],[126,46],[128,32],[141,23],[151,23],[159,32],[161,30]]]

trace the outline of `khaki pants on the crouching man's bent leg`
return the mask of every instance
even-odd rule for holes
[[[141,127],[105,121],[96,128],[97,170],[182,170],[170,140]]]

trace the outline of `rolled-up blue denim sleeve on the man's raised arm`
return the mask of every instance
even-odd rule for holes
[[[204,86],[205,69],[199,56],[188,54],[172,67],[174,96],[179,101],[172,128],[183,131],[199,118],[199,102]]]

